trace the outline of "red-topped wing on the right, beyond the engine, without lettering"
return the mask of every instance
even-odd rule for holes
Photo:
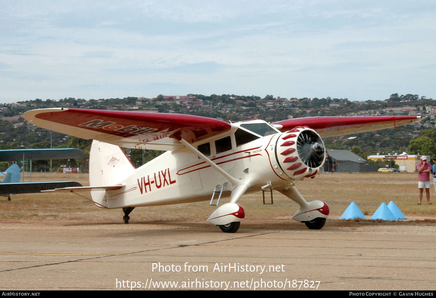
[[[276,128],[286,132],[296,126],[308,126],[322,138],[371,132],[409,124],[422,119],[421,116],[349,116],[349,117],[306,117],[274,122]]]

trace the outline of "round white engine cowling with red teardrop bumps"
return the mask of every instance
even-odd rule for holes
[[[277,139],[276,159],[283,172],[292,179],[315,176],[325,163],[324,142],[313,129],[296,127]]]

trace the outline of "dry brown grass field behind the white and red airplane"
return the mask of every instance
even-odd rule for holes
[[[25,180],[28,181],[26,173]],[[85,173],[33,173],[32,181],[75,180],[87,186]],[[321,174],[315,179],[297,181],[296,187],[306,200],[323,200],[330,207],[330,219],[338,219],[351,202],[355,202],[363,213],[371,217],[382,202],[394,201],[407,216],[433,219],[436,201],[432,205],[418,203],[418,176],[416,173],[336,173]],[[211,190],[212,192],[212,190]],[[90,197],[89,193],[83,193]],[[266,193],[268,196],[269,193]],[[274,192],[274,204],[262,204],[262,192],[242,196],[238,201],[245,209],[247,220],[291,220],[299,209],[298,205]],[[72,222],[122,222],[120,209],[106,210],[73,193],[36,193],[0,197],[0,220],[10,221],[50,221],[68,220]],[[436,198],[433,184],[430,200]],[[221,200],[227,203],[228,198]],[[215,207],[208,202],[186,203],[167,206],[139,207],[131,213],[131,222],[161,220],[206,220]]]

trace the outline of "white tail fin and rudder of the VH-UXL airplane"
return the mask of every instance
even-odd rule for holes
[[[115,145],[92,141],[89,152],[89,186],[121,183],[135,171],[124,151]],[[107,206],[106,191],[91,191],[92,200]]]

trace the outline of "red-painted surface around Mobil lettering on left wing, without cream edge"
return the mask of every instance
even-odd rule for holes
[[[68,108],[59,112],[35,115],[54,123],[89,129],[123,138],[151,142],[170,135],[195,142],[231,129],[227,122],[193,115],[105,111]],[[106,125],[104,125],[107,123]]]

